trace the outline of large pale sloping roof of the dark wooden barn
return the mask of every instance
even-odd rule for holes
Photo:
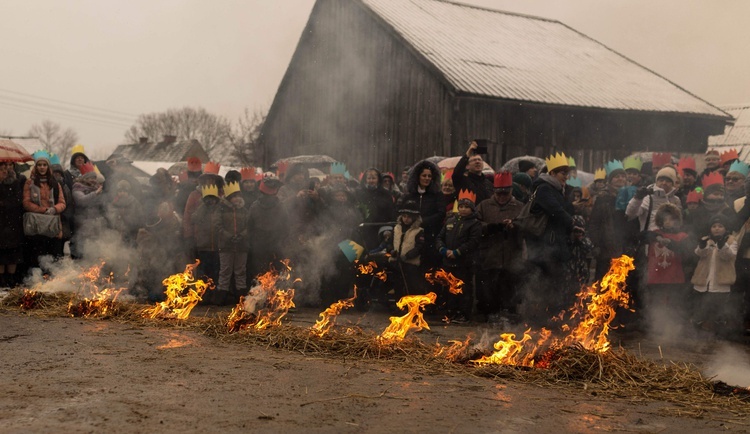
[[[361,1],[459,94],[728,119],[559,21],[442,0]]]

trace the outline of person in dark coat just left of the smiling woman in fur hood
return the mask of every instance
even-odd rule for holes
[[[393,222],[396,219],[396,206],[391,194],[383,188],[382,174],[378,169],[365,170],[357,190],[357,202],[365,223]],[[362,238],[366,249],[379,244],[378,228],[380,225],[366,226]]]

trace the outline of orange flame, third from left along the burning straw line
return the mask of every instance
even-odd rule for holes
[[[269,271],[256,277],[258,285],[250,289],[250,292],[243,297],[232,309],[227,318],[227,328],[230,333],[240,330],[254,328],[263,330],[271,326],[281,325],[281,319],[294,306],[294,288],[279,289],[277,286],[280,282],[289,282],[291,280],[292,268],[289,266],[289,260],[282,261],[285,270],[282,273],[271,268]],[[300,282],[295,279],[291,285]],[[259,304],[264,307],[256,308]]]

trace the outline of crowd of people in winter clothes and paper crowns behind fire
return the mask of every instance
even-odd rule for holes
[[[376,168],[357,179],[342,163],[325,179],[285,164],[222,177],[218,163],[191,158],[179,177],[159,169],[148,185],[118,156],[95,165],[76,147],[65,170],[37,151],[28,176],[0,162],[0,286],[35,268],[50,273],[66,243],[71,258],[96,259],[112,247],[102,236],[110,233],[137,253],[129,285],[144,300],[162,299],[161,281],[198,259],[196,274],[216,283],[205,302],[234,304],[255,276],[288,259],[314,275],[300,301],[322,306],[367,286],[357,264],[377,258],[393,271],[396,296],[437,292],[446,321],[544,322],[627,254],[636,264],[636,314],[624,313],[633,324],[750,327],[750,166],[736,151],[709,150],[701,173],[690,157],[631,156],[583,185],[563,153],[544,167],[522,160],[513,173],[487,175],[476,150],[472,142],[451,170],[426,159],[398,179]],[[541,222],[536,230],[529,217]],[[438,269],[463,291],[425,279]]]

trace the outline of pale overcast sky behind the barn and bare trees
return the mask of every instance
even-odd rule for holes
[[[559,20],[712,104],[750,103],[748,0],[463,3]],[[313,4],[3,0],[0,134],[51,119],[103,158],[142,113],[267,110]]]

